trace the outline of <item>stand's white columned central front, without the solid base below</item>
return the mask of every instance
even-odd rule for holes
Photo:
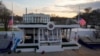
[[[43,45],[60,45],[61,34],[60,29],[48,30],[46,28],[40,29],[40,46]]]

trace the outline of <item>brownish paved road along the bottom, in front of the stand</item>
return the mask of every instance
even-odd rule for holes
[[[2,54],[0,54],[2,56]],[[100,56],[100,49],[90,50],[85,47],[81,47],[79,50],[65,50],[62,52],[49,52],[45,54],[41,53],[19,53],[19,54],[7,54],[5,56]]]

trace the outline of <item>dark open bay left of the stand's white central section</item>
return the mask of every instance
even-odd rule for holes
[[[38,43],[38,28],[25,28],[24,43]]]

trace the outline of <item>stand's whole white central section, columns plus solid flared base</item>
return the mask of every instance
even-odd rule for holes
[[[60,29],[55,28],[48,30],[47,28],[39,29],[39,49],[37,52],[52,52],[52,51],[63,51],[61,48],[61,33]]]

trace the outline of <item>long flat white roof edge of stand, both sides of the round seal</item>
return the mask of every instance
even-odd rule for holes
[[[47,27],[47,25],[32,25],[32,24],[29,24],[29,25],[25,25],[25,24],[19,24],[19,25],[16,25],[17,27],[19,28],[45,28]],[[56,28],[79,28],[80,25],[54,25],[54,27]]]

